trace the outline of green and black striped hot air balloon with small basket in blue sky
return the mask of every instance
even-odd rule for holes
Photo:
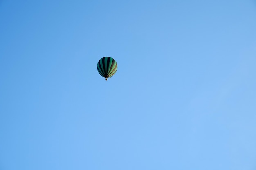
[[[103,57],[97,64],[97,70],[105,80],[112,77],[117,72],[117,62],[111,57]]]

